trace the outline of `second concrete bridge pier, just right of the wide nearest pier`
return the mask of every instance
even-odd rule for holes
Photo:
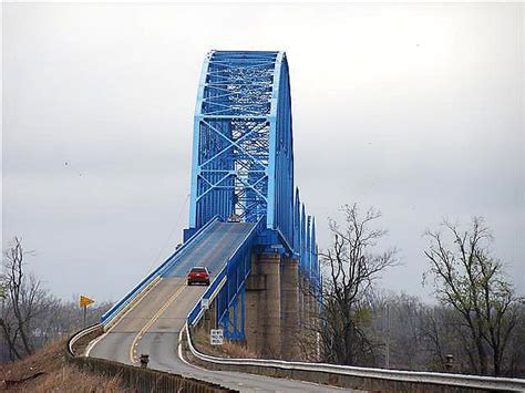
[[[298,360],[298,324],[299,324],[299,261],[282,261],[282,359]]]

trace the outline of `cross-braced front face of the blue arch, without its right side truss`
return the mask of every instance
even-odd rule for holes
[[[267,221],[278,52],[210,52],[194,128],[191,227],[215,215]],[[277,86],[278,89],[278,86]],[[274,217],[274,213],[271,216]]]

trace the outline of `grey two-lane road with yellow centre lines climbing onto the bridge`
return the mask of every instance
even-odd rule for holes
[[[199,245],[194,245],[194,248],[186,252],[179,262],[187,270],[192,266],[213,266],[213,271],[218,271],[216,269],[220,265],[220,259],[224,265],[230,250],[234,250],[246,236],[248,229],[240,229],[238,224],[222,224],[212,228],[213,234],[207,237],[208,239],[203,239]],[[142,353],[147,353],[150,355],[148,366],[152,369],[218,383],[241,392],[343,391],[308,382],[236,372],[208,371],[181,360],[177,354],[178,334],[185,324],[189,310],[206,290],[206,287],[202,286],[186,286],[185,273],[181,277],[181,271],[183,270],[178,267],[164,275],[157,285],[117,323],[91,343],[87,354],[126,364],[138,364],[138,356]]]

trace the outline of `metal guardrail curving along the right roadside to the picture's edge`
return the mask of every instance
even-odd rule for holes
[[[287,362],[281,360],[217,358],[197,351],[193,345],[187,324],[185,330],[187,348],[191,354],[213,370],[288,378],[368,391],[450,392],[454,390],[470,392],[525,392],[525,380],[521,379],[384,370],[325,363]]]

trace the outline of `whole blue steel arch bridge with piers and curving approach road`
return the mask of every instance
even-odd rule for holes
[[[319,313],[321,272],[315,218],[307,214],[294,180],[290,102],[284,52],[206,55],[195,108],[189,223],[183,245],[115,303],[100,325],[78,335],[91,340],[86,356],[138,365],[140,355],[148,354],[151,369],[240,391],[332,392],[340,389],[327,384],[348,375],[387,384],[429,379],[297,362],[299,341],[312,349],[316,360],[316,338],[301,333]],[[209,269],[208,287],[186,285],[194,266]],[[99,337],[90,335],[96,329]],[[222,329],[227,340],[245,343],[265,360],[224,361],[199,353],[191,334],[210,329]],[[199,364],[213,363],[215,370],[191,364],[183,347]],[[254,368],[296,380],[255,375]],[[451,384],[451,379],[435,376],[434,383]],[[466,385],[474,386],[472,381]],[[508,386],[514,385],[504,387]]]

